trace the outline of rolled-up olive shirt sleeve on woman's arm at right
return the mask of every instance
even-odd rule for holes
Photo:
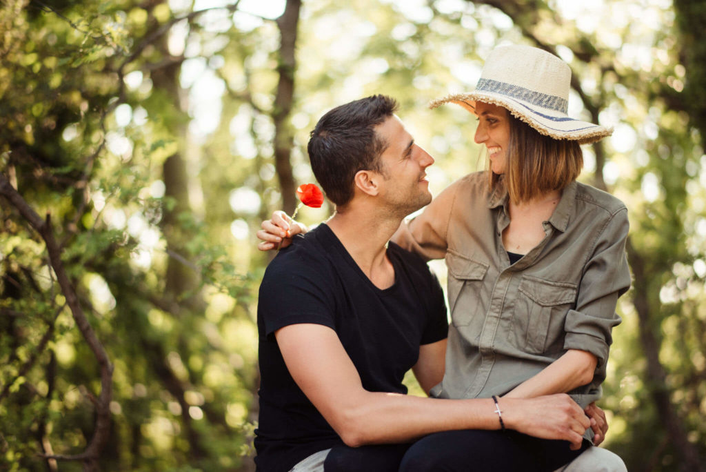
[[[625,251],[628,229],[626,208],[606,220],[585,264],[576,307],[569,310],[564,322],[564,348],[594,354],[597,369],[604,368],[613,342],[611,330],[621,323],[615,311],[618,297],[630,288]]]

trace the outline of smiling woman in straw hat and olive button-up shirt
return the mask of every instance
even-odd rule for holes
[[[433,396],[568,392],[585,407],[601,394],[616,301],[630,285],[628,218],[618,199],[576,182],[579,145],[612,130],[567,116],[570,75],[541,49],[498,47],[476,90],[431,104],[473,112],[489,158],[486,172],[452,184],[393,237],[448,266],[452,326]],[[502,398],[497,411],[502,423]],[[415,443],[400,470],[551,471],[591,436],[570,451],[510,432],[438,433]]]

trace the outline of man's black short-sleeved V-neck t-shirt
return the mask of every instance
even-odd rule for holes
[[[275,331],[290,324],[334,329],[364,389],[406,394],[402,378],[419,346],[446,338],[441,286],[426,263],[388,245],[395,283],[380,290],[321,224],[294,238],[265,271],[258,301],[260,418],[258,471],[289,471],[314,452],[343,444],[287,371]]]

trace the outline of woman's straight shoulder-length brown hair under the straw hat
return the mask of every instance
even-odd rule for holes
[[[577,141],[539,134],[508,112],[510,143],[505,152],[505,186],[514,203],[563,190],[581,173],[583,151]],[[489,169],[491,187],[499,175]]]

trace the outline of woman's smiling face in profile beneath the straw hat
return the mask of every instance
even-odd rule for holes
[[[490,103],[476,102],[478,128],[475,141],[485,144],[490,158],[490,168],[496,174],[505,172],[508,144],[510,143],[510,120],[508,110]]]

